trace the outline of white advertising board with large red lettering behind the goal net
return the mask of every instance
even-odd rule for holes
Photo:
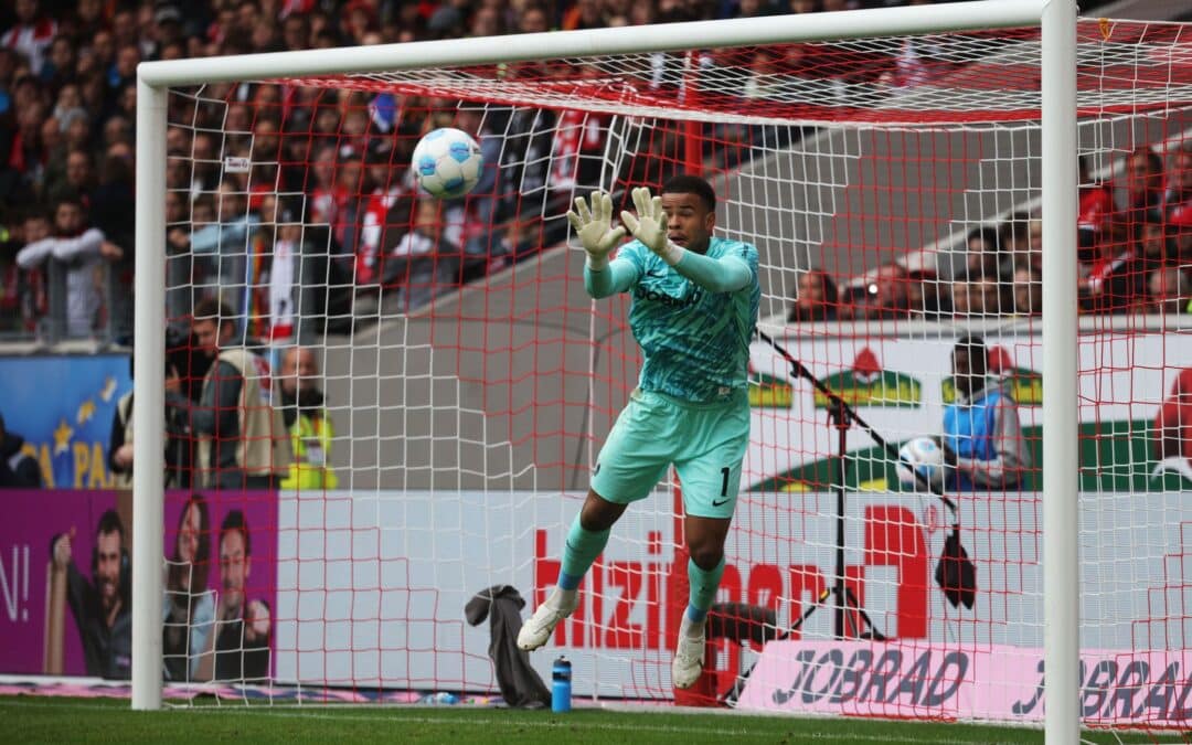
[[[1186,497],[1081,496],[1086,647],[1123,653],[1179,648],[1180,640],[1192,635],[1192,620],[1163,611],[1192,606],[1192,582],[1185,575],[1192,533],[1185,536],[1184,529],[1192,523],[1192,501]],[[962,542],[976,566],[971,609],[949,604],[933,578],[950,529],[942,504],[924,495],[849,493],[838,522],[836,498],[825,492],[743,495],[718,601],[772,608],[778,627],[787,628],[833,584],[837,529],[843,526],[840,569],[874,631],[901,650],[930,651],[921,664],[930,663],[932,671],[951,651],[969,656],[968,675],[974,675],[988,656],[1010,659],[1007,650],[1018,650],[1018,662],[1005,663],[1017,677],[989,684],[1007,685],[1006,696],[1029,701],[1043,639],[1039,495],[961,499]],[[581,503],[579,493],[558,492],[284,493],[278,678],[495,689],[489,628],[468,627],[464,606],[476,591],[497,584],[515,586],[528,606],[536,602],[555,579],[566,526]],[[559,626],[546,648],[530,656],[544,679],[551,662],[566,654],[575,665],[577,695],[673,695],[670,657],[687,602],[687,560],[676,553],[671,507],[671,497],[659,492],[617,523],[585,579],[579,610]],[[758,675],[769,670],[764,679],[772,685],[799,688],[794,682],[805,664],[802,650],[817,650],[819,659],[821,648],[797,645],[812,641],[836,644],[839,656],[850,660],[851,648],[836,641],[834,602],[827,600],[813,613],[790,642],[768,645],[765,656],[774,658]],[[523,609],[523,616],[529,610]],[[731,676],[753,658],[755,652],[722,653],[713,666]],[[913,664],[920,663],[908,654],[900,662]],[[822,688],[824,675],[817,672],[815,690]],[[894,690],[889,685],[887,697]],[[969,694],[961,696],[962,690],[949,696],[949,706],[987,700],[986,694],[966,699]],[[772,690],[750,695],[772,697]],[[973,715],[986,714],[974,708],[977,703],[963,706]]]

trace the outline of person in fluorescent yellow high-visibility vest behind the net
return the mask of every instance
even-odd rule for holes
[[[315,353],[306,347],[286,349],[277,386],[294,453],[281,489],[335,489],[339,485],[331,470],[335,432],[323,406]]]

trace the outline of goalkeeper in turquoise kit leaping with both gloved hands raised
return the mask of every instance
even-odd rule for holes
[[[749,443],[749,343],[757,325],[757,249],[713,237],[716,197],[697,176],[668,181],[660,197],[633,190],[637,216],[613,228],[613,199],[581,197],[567,219],[588,261],[596,298],[632,292],[629,328],[645,362],[638,387],[608,435],[588,498],[567,533],[558,586],[522,626],[517,645],[536,650],[579,603],[578,586],[631,502],[645,498],[675,464],[683,485],[690,596],[671,665],[677,688],[703,669],[704,626],[725,570],[725,538]]]

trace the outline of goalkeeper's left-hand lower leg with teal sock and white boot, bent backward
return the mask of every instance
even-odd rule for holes
[[[615,504],[592,490],[588,491],[583,509],[571,522],[567,541],[563,551],[563,567],[559,582],[550,597],[534,611],[521,632],[517,646],[533,651],[551,638],[559,621],[571,615],[579,604],[579,582],[591,567],[596,557],[604,551],[613,523],[625,513],[626,504]]]

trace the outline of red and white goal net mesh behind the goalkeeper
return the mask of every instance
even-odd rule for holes
[[[1192,520],[1187,27],[1082,20],[1078,67],[1084,715],[1174,727]],[[212,622],[238,629],[213,653],[253,637],[286,684],[274,695],[493,695],[504,671],[465,606],[505,585],[544,597],[640,366],[629,298],[590,300],[563,212],[592,188],[621,209],[631,187],[701,172],[716,234],[759,250],[760,328],[781,347],[751,350],[708,670],[671,687],[687,604],[675,479],[626,513],[533,666],[547,677],[558,648],[584,697],[1039,721],[1038,79],[1037,30],[1008,30],[173,91],[167,315],[188,399],[176,432],[195,447],[175,466],[190,491],[170,498],[212,504],[194,559],[210,588],[184,595],[210,590]],[[484,151],[465,199],[415,188],[410,153],[439,126]],[[229,372],[228,349],[252,356]],[[236,374],[259,399],[219,398]],[[865,426],[842,427],[819,385],[921,457],[955,510]],[[958,448],[963,476],[919,437]],[[250,528],[226,528],[236,509]],[[246,590],[248,554],[224,544],[250,533]],[[957,539],[970,597],[936,575]],[[517,613],[502,602],[488,613]],[[200,669],[184,675],[252,679]]]

